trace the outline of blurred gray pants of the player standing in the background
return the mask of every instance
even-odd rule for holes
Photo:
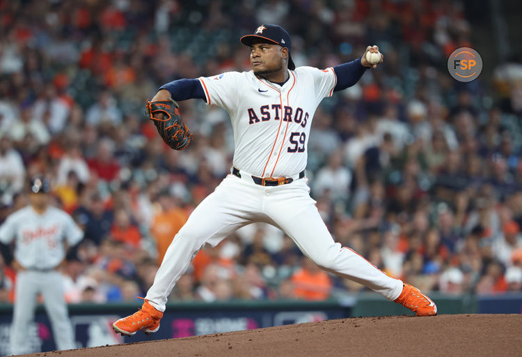
[[[56,349],[74,349],[74,335],[67,305],[63,298],[63,282],[57,271],[20,271],[15,288],[13,327],[10,335],[12,354],[29,354],[27,351],[27,326],[33,322],[36,298],[42,294],[47,316],[51,320]]]

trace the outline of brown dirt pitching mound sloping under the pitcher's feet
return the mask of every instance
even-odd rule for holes
[[[358,317],[26,356],[521,356],[522,315]]]

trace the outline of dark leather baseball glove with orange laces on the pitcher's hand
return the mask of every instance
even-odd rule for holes
[[[148,101],[145,114],[154,122],[159,135],[168,146],[175,150],[183,150],[189,146],[192,133],[183,123],[178,108],[179,106],[174,100]],[[163,114],[163,118],[155,117],[155,114],[159,113]]]

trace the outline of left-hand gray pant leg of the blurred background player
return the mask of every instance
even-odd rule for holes
[[[13,311],[13,327],[10,333],[11,354],[28,354],[34,351],[27,349],[27,329],[33,322],[38,295],[34,273],[21,271],[17,274],[15,287],[15,307]]]

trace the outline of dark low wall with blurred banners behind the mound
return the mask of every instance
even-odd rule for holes
[[[436,301],[440,314],[522,313],[522,294],[430,296]],[[149,336],[137,333],[134,337],[122,337],[114,333],[111,328],[113,322],[136,311],[140,305],[139,301],[135,304],[70,305],[77,347],[224,333],[344,317],[411,314],[401,305],[390,303],[372,293],[322,302],[169,303],[157,333]],[[0,305],[0,356],[9,353],[12,314],[12,305]],[[27,343],[33,351],[52,351],[55,348],[52,328],[42,306],[36,310],[35,322],[29,326],[27,333]]]

